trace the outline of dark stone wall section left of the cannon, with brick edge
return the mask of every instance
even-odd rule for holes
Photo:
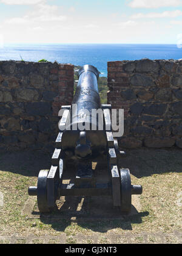
[[[0,61],[0,150],[49,149],[73,83],[72,64]]]

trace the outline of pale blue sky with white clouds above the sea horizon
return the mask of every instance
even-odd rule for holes
[[[182,43],[182,0],[0,0],[3,43]]]

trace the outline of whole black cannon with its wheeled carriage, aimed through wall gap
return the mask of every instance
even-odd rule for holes
[[[130,171],[120,168],[118,140],[113,137],[110,120],[111,105],[101,105],[98,92],[99,71],[92,65],[85,65],[78,71],[78,85],[72,105],[62,106],[59,134],[55,142],[50,170],[41,170],[36,187],[29,187],[30,196],[37,196],[40,213],[57,209],[56,200],[61,196],[112,196],[113,206],[129,213],[132,195],[142,193],[141,185],[132,185]],[[101,109],[103,129],[93,109]],[[107,182],[96,179],[93,161],[100,157],[107,159]],[[75,174],[69,183],[67,164],[73,163]]]

